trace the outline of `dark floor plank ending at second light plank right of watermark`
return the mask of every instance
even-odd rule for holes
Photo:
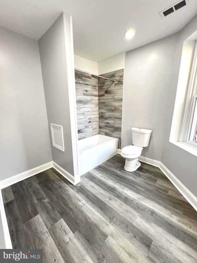
[[[46,197],[41,187],[36,183],[33,177],[24,180],[26,189],[31,196],[36,208],[42,217],[46,227],[49,229],[52,225],[58,222],[62,217],[57,210],[52,206],[49,199]]]

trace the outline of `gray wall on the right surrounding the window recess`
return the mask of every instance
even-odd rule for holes
[[[179,77],[179,68],[183,41],[197,30],[197,15],[180,31],[175,64],[172,71],[172,82],[170,86],[169,111],[167,114],[167,125],[163,143],[161,162],[197,196],[197,157],[169,142],[172,116],[175,105],[176,89]]]

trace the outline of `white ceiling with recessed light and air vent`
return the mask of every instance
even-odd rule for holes
[[[0,25],[38,40],[64,11],[73,18],[74,54],[100,61],[180,31],[197,14],[197,0],[186,0],[186,6],[161,18],[159,12],[175,2],[1,0]],[[126,40],[130,28],[136,33]]]

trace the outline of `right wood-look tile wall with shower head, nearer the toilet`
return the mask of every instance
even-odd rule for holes
[[[100,76],[118,80],[113,82],[98,77],[99,134],[119,138],[121,144],[124,69]]]

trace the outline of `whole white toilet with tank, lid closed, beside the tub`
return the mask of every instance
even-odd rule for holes
[[[125,158],[124,169],[127,172],[133,172],[139,168],[141,163],[138,161],[143,147],[147,147],[151,137],[152,130],[132,128],[132,143],[134,145],[126,146],[121,150],[121,156]]]

